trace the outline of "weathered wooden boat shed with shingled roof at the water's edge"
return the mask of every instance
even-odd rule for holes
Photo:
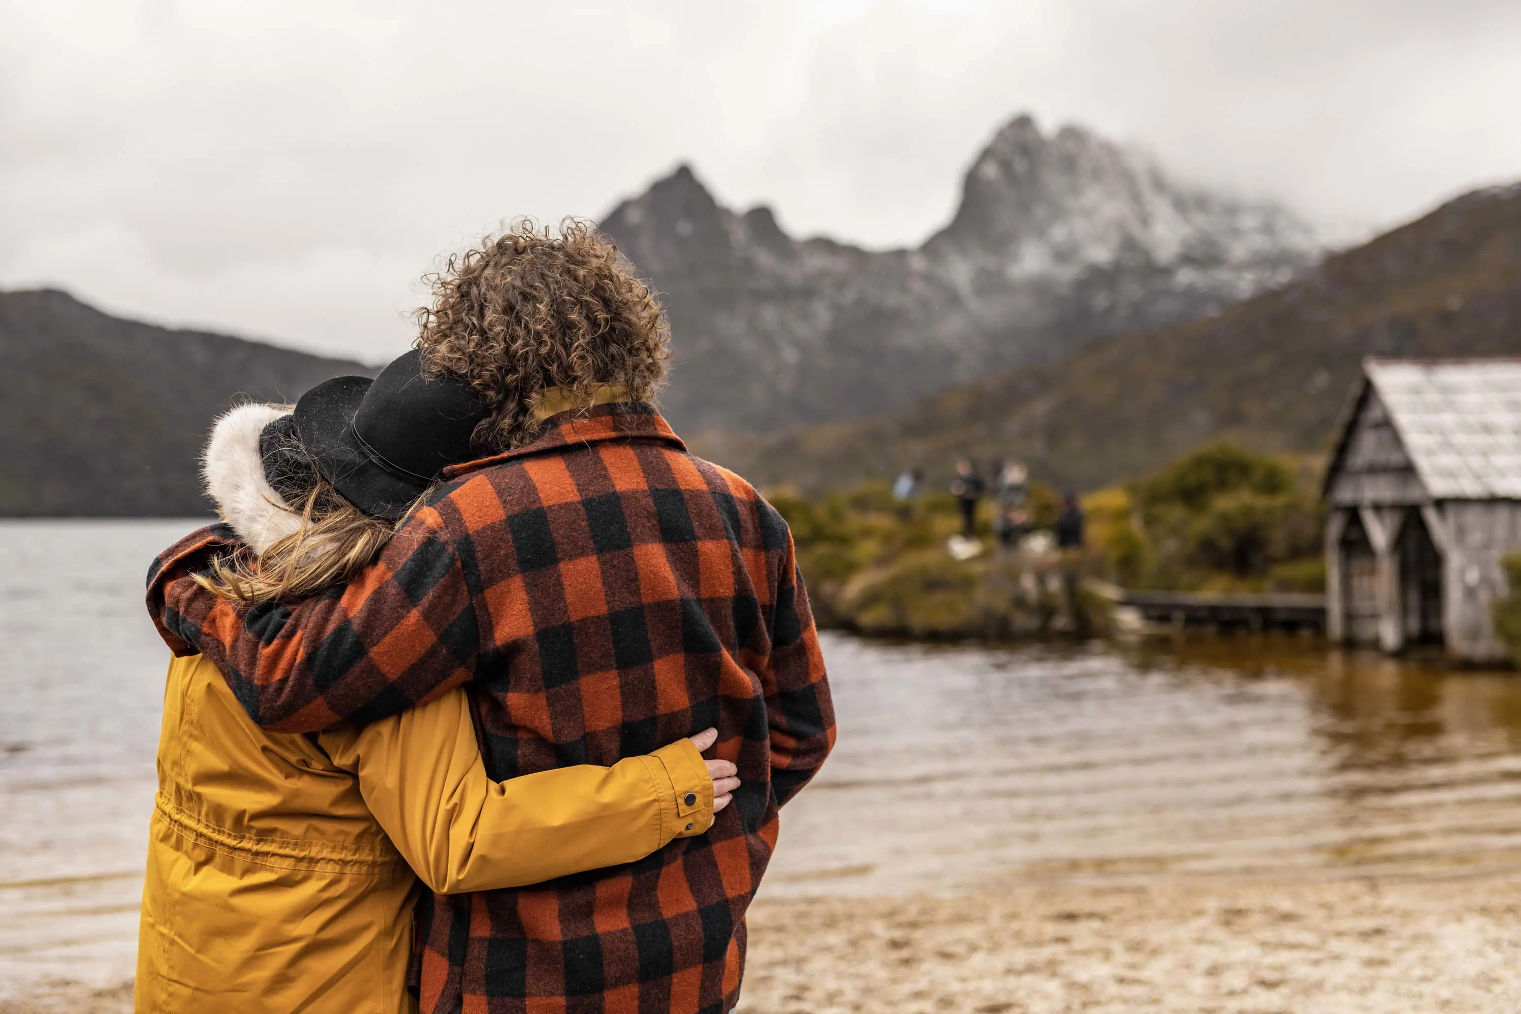
[[[1326,470],[1326,634],[1506,657],[1491,604],[1521,550],[1521,359],[1369,359]]]

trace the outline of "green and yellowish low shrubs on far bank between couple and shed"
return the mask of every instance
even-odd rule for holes
[[[1091,635],[1109,629],[1097,581],[1183,590],[1319,591],[1322,511],[1310,468],[1229,444],[1154,476],[1083,497],[1088,546],[996,546],[984,503],[984,552],[955,559],[961,521],[949,494],[894,502],[885,483],[820,497],[771,497],[797,543],[820,625],[914,639]],[[1033,483],[1036,532],[1060,497]],[[1049,541],[1049,540],[1043,540]]]

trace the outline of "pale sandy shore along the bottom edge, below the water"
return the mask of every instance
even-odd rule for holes
[[[1513,1014],[1521,879],[764,900],[744,1014]],[[122,1014],[65,982],[0,1014]]]

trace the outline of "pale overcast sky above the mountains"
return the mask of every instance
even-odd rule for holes
[[[0,287],[383,360],[514,214],[689,161],[914,245],[1021,111],[1335,231],[1521,178],[1521,0],[0,0]]]

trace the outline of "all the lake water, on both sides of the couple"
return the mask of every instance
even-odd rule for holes
[[[193,524],[0,523],[0,997],[131,974],[169,657],[141,584]],[[1521,677],[1250,639],[824,654],[840,746],[762,895],[1521,870]]]

